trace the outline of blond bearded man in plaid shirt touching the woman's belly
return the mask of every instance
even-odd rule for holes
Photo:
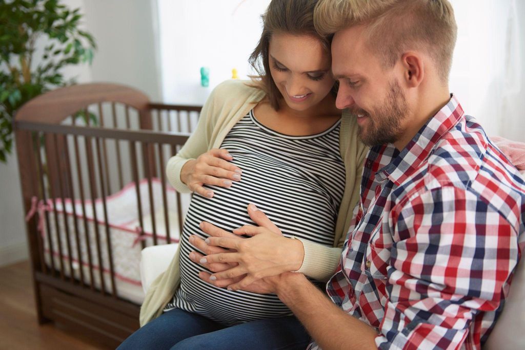
[[[316,20],[334,34],[337,106],[354,112],[372,146],[361,200],[331,300],[302,274],[258,286],[295,313],[311,348],[479,349],[525,245],[525,183],[449,93],[453,9],[447,0],[321,0]],[[250,216],[275,232],[260,211]],[[202,227],[222,236],[210,245],[238,250],[207,263],[244,263],[241,239]]]

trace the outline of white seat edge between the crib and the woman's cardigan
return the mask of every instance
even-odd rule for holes
[[[163,244],[159,246],[145,247],[142,249],[140,258],[140,279],[144,294],[150,288],[151,283],[170,265],[178,243]]]

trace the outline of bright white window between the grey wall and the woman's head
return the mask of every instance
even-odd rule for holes
[[[164,101],[198,104],[218,83],[250,74],[248,57],[257,45],[269,0],[158,0]],[[210,69],[201,86],[201,67]]]

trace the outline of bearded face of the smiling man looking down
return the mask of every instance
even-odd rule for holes
[[[406,97],[395,70],[383,69],[362,32],[362,27],[352,27],[334,35],[332,71],[340,82],[335,104],[357,116],[365,145],[395,143],[405,132]]]

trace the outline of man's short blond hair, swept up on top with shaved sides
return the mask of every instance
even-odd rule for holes
[[[320,0],[314,24],[320,35],[364,25],[367,46],[385,68],[403,53],[421,50],[434,60],[441,81],[448,81],[457,25],[447,0]]]

